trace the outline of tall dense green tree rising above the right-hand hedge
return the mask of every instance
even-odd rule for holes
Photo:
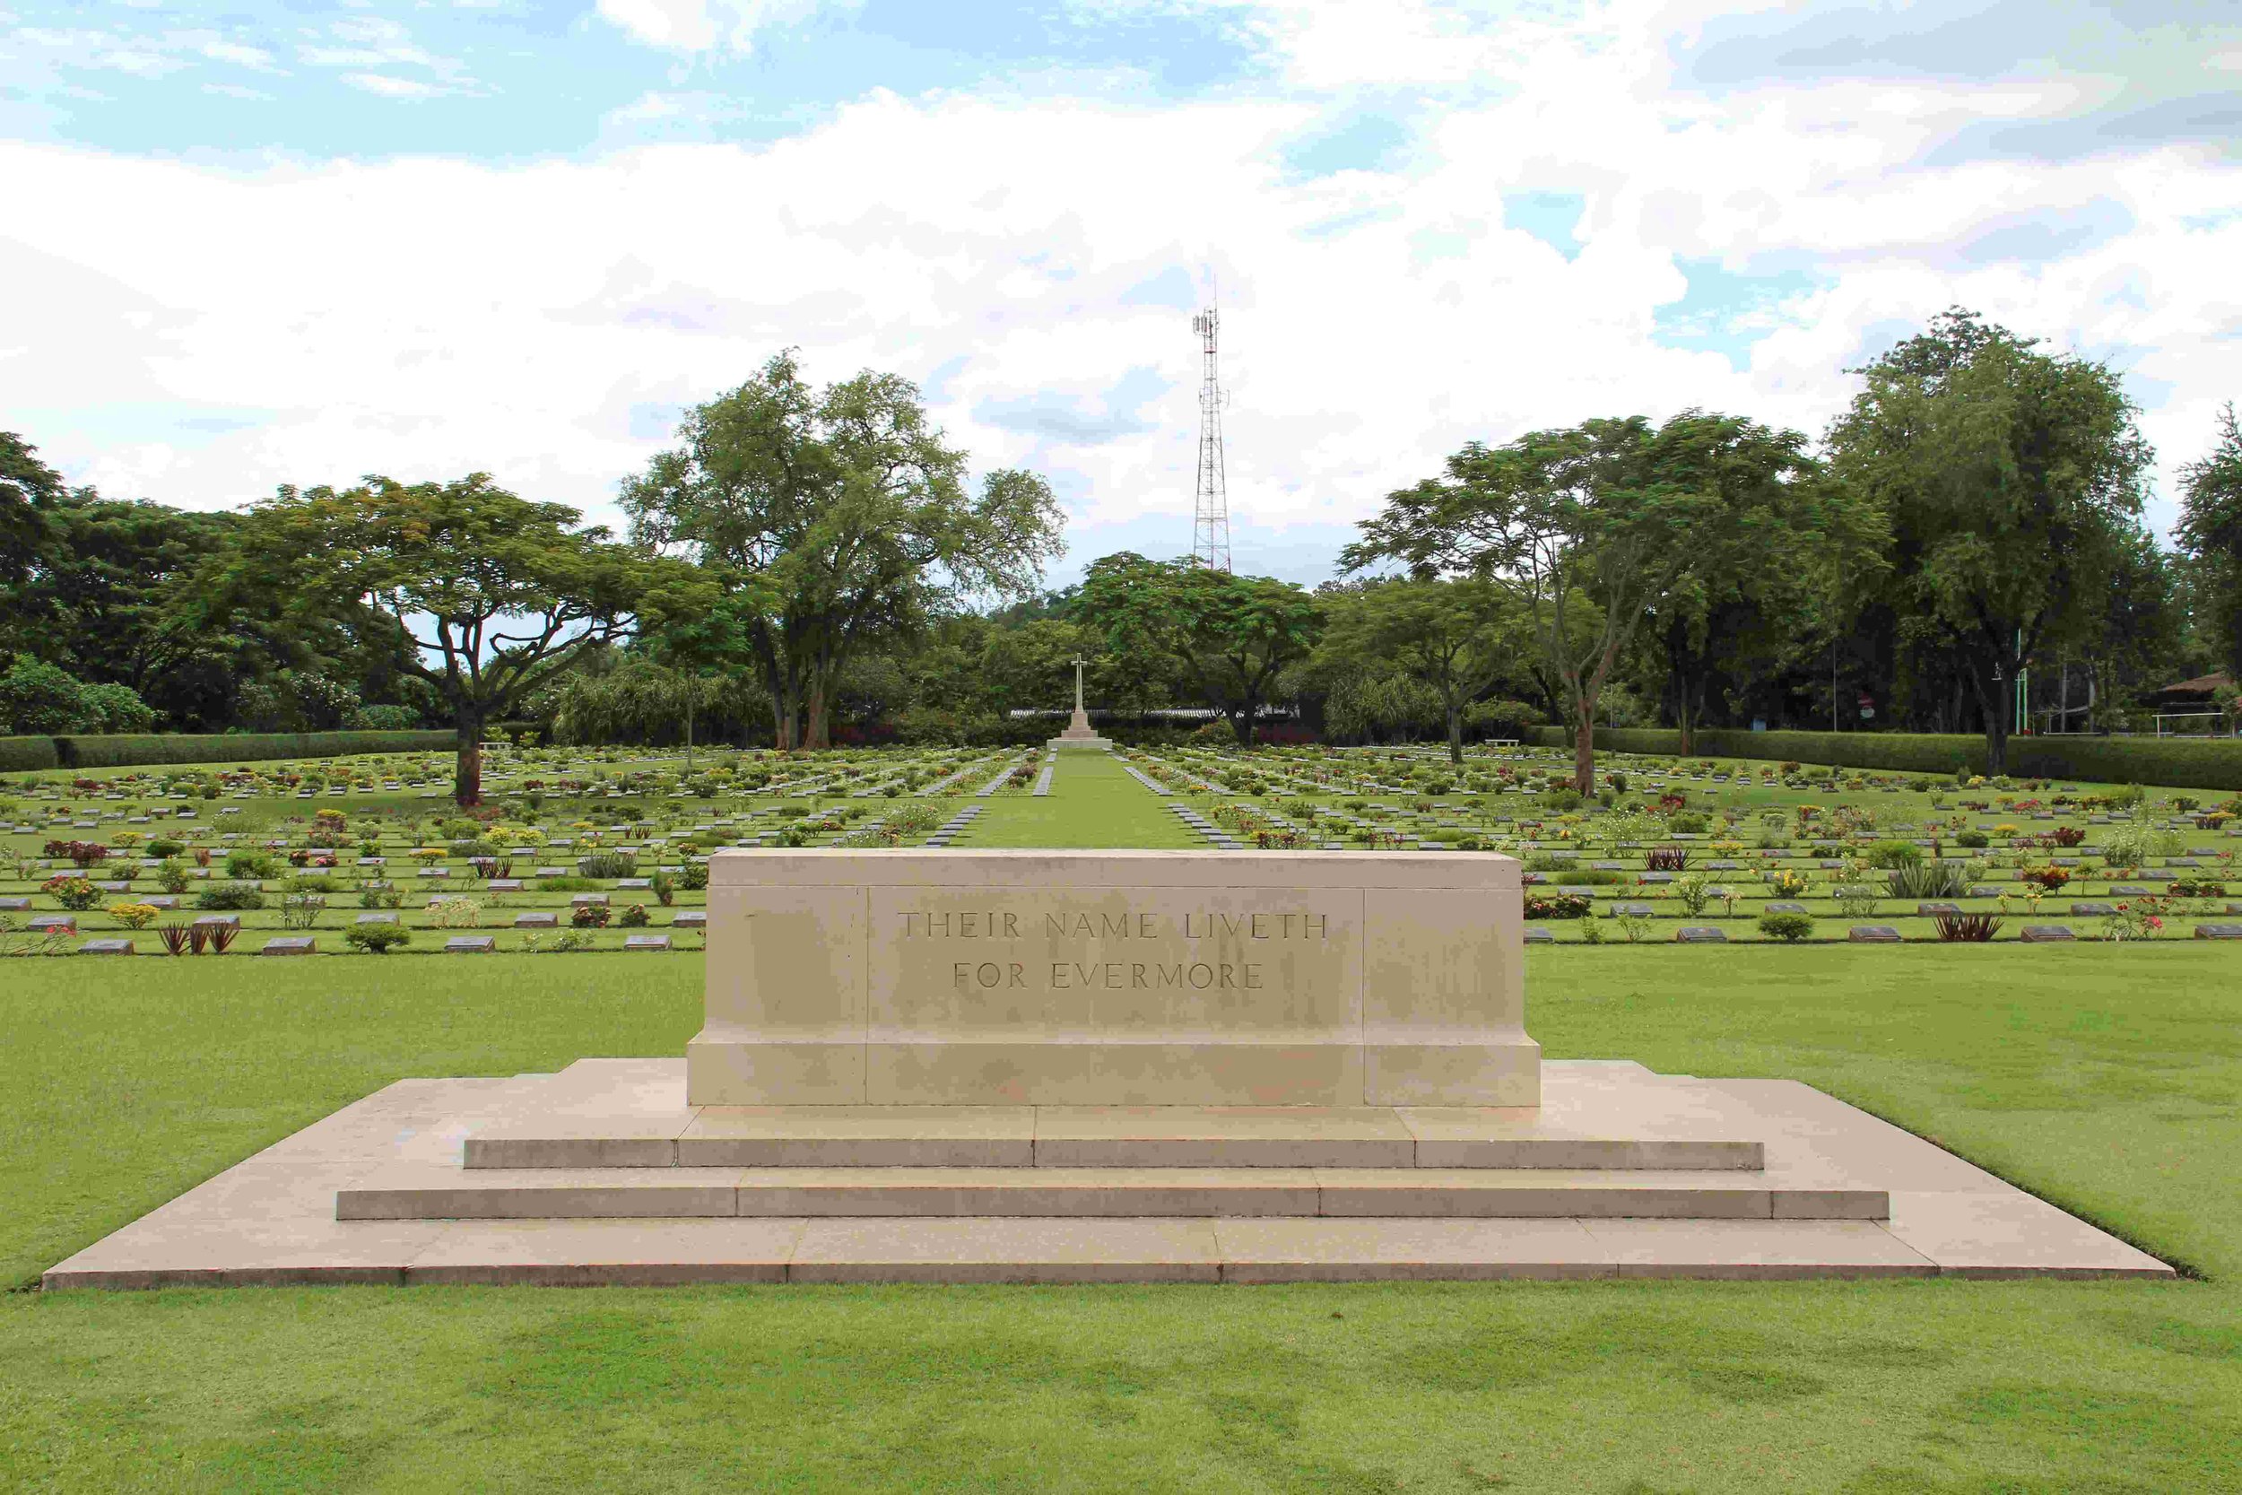
[[[2148,442],[2116,372],[1951,309],[1865,370],[1829,428],[1836,477],[1890,516],[1892,589],[1964,661],[1986,764],[2009,767],[2016,677],[2103,616],[2139,524]]]

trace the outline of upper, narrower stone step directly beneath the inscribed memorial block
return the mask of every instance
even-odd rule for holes
[[[1567,1121],[1572,1125],[1567,1125]],[[1634,1168],[1755,1170],[1717,1125],[1596,1134],[1466,1107],[540,1107],[466,1139],[493,1168]],[[1695,1132],[1695,1134],[1693,1134]]]

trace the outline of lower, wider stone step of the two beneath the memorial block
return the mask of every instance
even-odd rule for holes
[[[1549,1168],[453,1168],[392,1163],[336,1219],[1659,1217],[1886,1219],[1881,1188]]]

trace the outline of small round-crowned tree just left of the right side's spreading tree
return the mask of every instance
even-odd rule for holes
[[[1356,666],[1397,663],[1439,699],[1448,762],[1464,762],[1464,708],[1531,648],[1516,596],[1484,578],[1377,581],[1325,592],[1321,654]]]

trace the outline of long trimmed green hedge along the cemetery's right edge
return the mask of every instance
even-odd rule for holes
[[[1525,740],[1569,749],[1563,726],[1529,726]],[[1670,726],[1599,726],[1596,746],[1614,753],[1682,753]],[[1984,773],[1984,737],[1966,733],[1751,733],[1702,728],[1695,758],[1773,758],[1841,769],[1951,776]],[[2164,789],[2242,789],[2242,740],[2190,737],[2009,737],[2013,778],[2078,778],[2099,784]]]

